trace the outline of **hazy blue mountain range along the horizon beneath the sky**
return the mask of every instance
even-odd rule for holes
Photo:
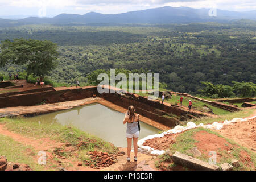
[[[29,17],[19,20],[0,19],[1,24],[68,24],[68,23],[193,23],[193,22],[226,22],[234,19],[256,20],[256,10],[226,11],[216,10],[216,16],[209,16],[210,9],[192,9],[190,7],[164,6],[155,9],[130,11],[120,14],[101,14],[90,12],[84,15],[60,14],[53,18]]]

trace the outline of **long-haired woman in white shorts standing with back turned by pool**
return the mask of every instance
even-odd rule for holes
[[[135,114],[134,106],[129,106],[125,113],[123,124],[127,123],[126,138],[127,138],[127,161],[130,162],[131,143],[133,140],[134,146],[134,161],[137,161],[138,154],[138,138],[139,138],[139,114]]]

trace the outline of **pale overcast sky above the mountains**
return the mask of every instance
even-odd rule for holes
[[[0,16],[33,15],[52,17],[61,13],[125,13],[154,7],[187,6],[196,9],[256,10],[256,0],[0,0]]]

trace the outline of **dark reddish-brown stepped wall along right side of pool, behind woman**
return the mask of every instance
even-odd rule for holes
[[[127,108],[133,105],[138,114],[146,115],[154,121],[160,121],[168,127],[179,125],[179,121],[191,119],[195,117],[211,117],[207,113],[195,112],[177,107],[174,105],[161,104],[158,100],[148,100],[147,97],[138,96],[133,93],[109,93],[98,94],[97,96],[104,98],[116,105]],[[113,92],[114,90],[112,90]]]

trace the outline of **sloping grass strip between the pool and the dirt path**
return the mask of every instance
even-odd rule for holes
[[[115,153],[117,148],[104,140],[89,135],[73,126],[62,126],[57,122],[38,123],[36,121],[24,121],[22,118],[0,119],[0,123],[5,123],[5,127],[14,131],[15,133],[22,134],[25,137],[51,138],[63,143],[70,143],[72,146],[79,144],[80,140],[88,142],[86,147],[80,148],[85,151],[100,150],[103,152]]]

